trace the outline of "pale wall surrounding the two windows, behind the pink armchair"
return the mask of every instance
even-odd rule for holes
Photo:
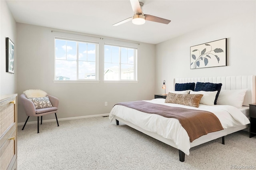
[[[99,49],[99,83],[54,83],[54,36],[64,34],[51,30],[56,29],[17,23],[18,95],[27,89],[41,89],[58,97],[58,118],[110,113],[117,102],[154,98],[155,45],[138,45],[138,83],[104,83],[102,49]],[[66,36],[84,38],[72,34]],[[107,38],[97,40],[102,44],[115,42]],[[44,116],[43,120],[46,119],[55,119],[54,114]],[[18,122],[25,121],[24,109],[18,105]],[[29,121],[36,121],[36,118]]]

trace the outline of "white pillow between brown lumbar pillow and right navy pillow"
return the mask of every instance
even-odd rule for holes
[[[190,94],[202,94],[203,97],[200,100],[200,104],[214,105],[214,100],[218,91],[190,91]]]

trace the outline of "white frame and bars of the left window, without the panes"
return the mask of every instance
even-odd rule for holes
[[[55,40],[64,40],[64,41],[73,41],[76,42],[76,80],[56,80],[56,44]],[[79,60],[78,60],[78,43],[91,43],[95,44],[95,79],[78,79],[78,65],[79,65]],[[81,40],[81,39],[76,39],[76,38],[64,38],[64,37],[54,37],[54,82],[55,83],[98,83],[98,50],[99,50],[99,43],[96,41],[90,41],[90,40]]]

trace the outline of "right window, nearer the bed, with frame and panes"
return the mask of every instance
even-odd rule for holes
[[[105,45],[104,51],[104,80],[136,80],[137,49]]]

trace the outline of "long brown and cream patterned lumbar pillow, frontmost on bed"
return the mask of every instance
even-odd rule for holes
[[[198,107],[202,97],[202,94],[176,94],[169,92],[165,99],[165,103]]]

